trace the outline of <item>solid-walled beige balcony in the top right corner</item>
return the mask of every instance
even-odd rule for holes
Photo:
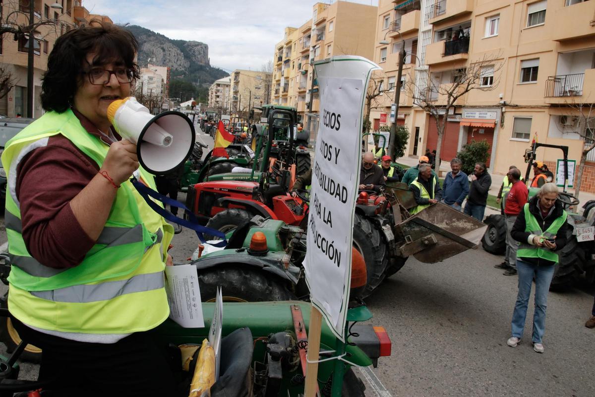
[[[593,6],[593,2],[587,1],[556,10],[556,17],[552,18],[553,26],[548,29],[552,39],[561,42],[595,36]]]

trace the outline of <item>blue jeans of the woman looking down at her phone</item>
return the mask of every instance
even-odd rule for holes
[[[516,296],[515,310],[512,313],[512,336],[519,339],[522,337],[527,316],[527,305],[531,295],[531,284],[535,277],[535,312],[533,314],[533,336],[534,343],[541,343],[541,338],[546,330],[546,308],[547,293],[552,283],[555,266],[537,266],[516,260],[516,271],[519,277],[519,292]]]

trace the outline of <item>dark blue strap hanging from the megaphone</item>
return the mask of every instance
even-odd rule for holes
[[[174,200],[167,196],[161,195],[158,192],[155,192],[155,190],[151,189],[150,187],[145,186],[143,183],[140,183],[135,177],[132,177],[130,179],[130,182],[132,183],[134,188],[136,188],[137,192],[139,192],[139,194],[142,196],[142,198],[145,199],[146,203],[149,205],[149,207],[151,207],[151,209],[153,211],[157,212],[159,215],[161,215],[168,221],[177,223],[180,226],[184,226],[184,227],[187,227],[188,229],[194,230],[196,232],[196,235],[198,236],[198,239],[201,240],[201,243],[209,244],[209,245],[212,245],[215,247],[224,247],[227,245],[227,239],[226,239],[225,233],[220,232],[217,229],[211,229],[210,227],[202,226],[201,224],[199,224],[198,219],[196,218],[195,214],[193,214],[192,211],[190,211],[186,207],[186,205],[182,204],[181,202],[179,202],[177,200]],[[161,201],[164,204],[169,204],[169,205],[172,205],[173,207],[178,207],[178,208],[183,209],[186,212],[186,214],[188,214],[190,220],[185,220],[185,219],[179,218],[176,215],[172,214],[171,212],[165,210],[164,208],[159,207],[159,205],[157,205],[154,201],[152,201],[149,198],[149,196],[156,200]],[[223,239],[223,241],[215,243],[215,244],[207,243],[205,241],[205,237],[202,235],[202,233],[208,233],[209,235],[221,237]]]

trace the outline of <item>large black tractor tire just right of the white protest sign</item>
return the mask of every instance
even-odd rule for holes
[[[362,298],[369,296],[384,280],[387,266],[387,245],[372,221],[362,214],[353,218],[353,246],[364,257],[368,272]]]

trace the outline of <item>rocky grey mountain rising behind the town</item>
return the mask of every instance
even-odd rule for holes
[[[151,64],[171,67],[171,79],[192,83],[199,88],[210,86],[229,73],[212,67],[209,46],[198,41],[173,40],[142,26],[130,25],[126,29],[139,41],[137,62],[140,67]],[[202,92],[203,89],[200,91]],[[196,95],[198,97],[198,95]]]

